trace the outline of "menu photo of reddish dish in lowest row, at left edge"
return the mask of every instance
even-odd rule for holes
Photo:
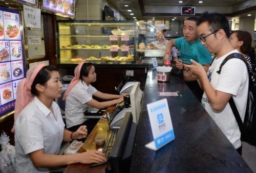
[[[8,102],[13,101],[13,93],[12,93],[12,83],[6,83],[0,85],[0,94],[1,94],[1,105],[4,105]]]

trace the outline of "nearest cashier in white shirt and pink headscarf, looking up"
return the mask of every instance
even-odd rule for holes
[[[98,151],[55,155],[62,140],[87,136],[85,126],[76,132],[64,128],[60,109],[53,102],[61,96],[61,87],[56,67],[44,64],[30,68],[18,84],[14,113],[17,172],[49,172],[48,167],[106,161]]]

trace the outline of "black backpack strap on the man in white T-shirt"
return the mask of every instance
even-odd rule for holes
[[[230,60],[230,59],[232,59],[232,58],[241,59],[241,60],[244,61],[244,63],[246,64],[247,71],[248,71],[248,76],[249,76],[249,88],[248,88],[248,91],[249,91],[249,89],[251,88],[250,86],[251,86],[251,82],[252,82],[252,80],[251,80],[251,73],[250,73],[250,69],[249,69],[249,64],[248,64],[247,60],[245,59],[245,57],[244,57],[242,54],[233,53],[233,54],[230,54],[229,56],[227,56],[227,57],[223,60],[223,62],[221,63],[220,69],[217,71],[217,73],[220,74],[223,65],[224,65],[228,60]],[[247,99],[248,99],[248,98],[247,98]],[[233,112],[233,114],[234,114],[234,117],[236,118],[237,123],[238,123],[238,126],[239,126],[239,128],[240,128],[241,126],[243,126],[243,121],[242,121],[241,116],[240,116],[240,114],[239,114],[239,112],[238,112],[237,106],[236,106],[236,104],[234,103],[233,96],[230,97],[228,103],[229,103],[229,105],[230,105],[230,107],[231,107],[231,110],[232,110],[232,112]],[[241,129],[240,129],[240,131],[241,131]]]

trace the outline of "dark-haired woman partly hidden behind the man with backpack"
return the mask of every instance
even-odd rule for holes
[[[236,48],[249,63],[250,72],[252,71],[251,62],[255,64],[255,55],[251,47],[252,37],[247,31],[233,31],[230,33],[229,40],[233,48]],[[251,57],[250,57],[250,56]]]

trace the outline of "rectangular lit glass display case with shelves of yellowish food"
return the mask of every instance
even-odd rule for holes
[[[57,20],[57,62],[134,63],[135,21]]]

